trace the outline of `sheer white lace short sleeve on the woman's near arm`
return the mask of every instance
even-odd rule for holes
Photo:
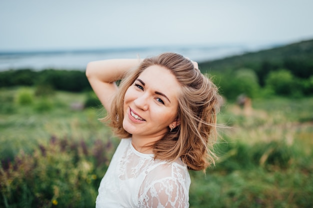
[[[177,179],[167,178],[150,184],[139,197],[139,207],[189,207],[188,191]]]

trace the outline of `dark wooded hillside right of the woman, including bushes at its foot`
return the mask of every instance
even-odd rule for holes
[[[227,98],[313,94],[313,40],[199,63]]]

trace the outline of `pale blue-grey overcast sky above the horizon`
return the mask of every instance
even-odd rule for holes
[[[313,0],[0,0],[0,51],[288,43]]]

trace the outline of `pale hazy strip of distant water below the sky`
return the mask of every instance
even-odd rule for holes
[[[197,62],[218,59],[251,50],[242,45],[188,46],[188,47],[142,47],[114,48],[103,50],[62,50],[38,52],[0,52],[0,70],[24,69],[42,70],[75,69],[84,70],[87,63],[107,58],[145,58],[161,52],[176,52]]]

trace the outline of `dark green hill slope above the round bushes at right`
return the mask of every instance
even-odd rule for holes
[[[296,77],[308,78],[313,75],[313,39],[202,62],[199,67],[203,72],[249,68],[256,72],[261,84],[269,71],[281,68],[290,70]]]

